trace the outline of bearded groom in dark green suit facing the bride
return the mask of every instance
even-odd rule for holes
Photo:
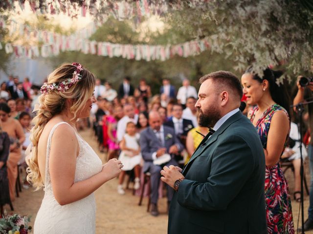
[[[182,171],[161,171],[162,181],[177,191],[168,233],[266,234],[265,156],[254,126],[239,111],[240,81],[219,71],[200,83],[199,124],[215,133],[204,137]]]

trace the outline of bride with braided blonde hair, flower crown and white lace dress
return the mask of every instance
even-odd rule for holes
[[[37,190],[45,187],[35,234],[95,233],[93,192],[123,167],[116,159],[102,165],[75,128],[77,118],[89,117],[96,101],[95,80],[81,64],[66,63],[41,87],[27,158],[27,179]]]

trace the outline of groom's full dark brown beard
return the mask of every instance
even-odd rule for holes
[[[198,112],[199,125],[203,127],[213,128],[217,121],[219,121],[219,119],[222,117],[220,110],[215,105],[211,105],[204,111],[199,108]]]

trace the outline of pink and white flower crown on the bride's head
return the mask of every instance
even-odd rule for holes
[[[83,69],[83,66],[77,62],[73,62],[72,65],[76,67],[76,70],[73,72],[72,78],[62,81],[59,84],[56,84],[56,83],[48,84],[47,82],[45,82],[44,85],[41,86],[40,92],[43,95],[46,95],[55,90],[60,91],[60,92],[65,92],[75,83],[77,83],[82,78],[82,75],[80,75],[80,72],[83,71],[84,69]]]

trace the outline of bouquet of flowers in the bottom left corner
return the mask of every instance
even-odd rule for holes
[[[1,234],[28,234],[31,227],[27,225],[30,218],[22,215],[4,215],[0,218]]]

